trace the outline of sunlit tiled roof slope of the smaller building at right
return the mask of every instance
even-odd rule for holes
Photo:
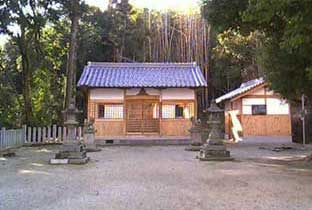
[[[232,90],[231,92],[220,96],[219,98],[216,99],[217,103],[220,103],[224,100],[228,100],[228,99],[232,99],[240,94],[243,94],[259,85],[264,84],[264,79],[263,78],[259,78],[259,79],[254,79],[254,80],[250,80],[248,82],[242,83],[241,86],[235,90]]]

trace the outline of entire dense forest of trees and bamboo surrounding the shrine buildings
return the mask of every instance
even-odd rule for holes
[[[68,84],[72,5],[0,0],[0,126],[61,123]],[[4,6],[1,6],[4,5]],[[203,0],[200,13],[134,8],[101,11],[80,1],[75,83],[88,61],[193,62],[209,87],[199,105],[265,76],[288,99],[311,98],[309,0]],[[75,93],[80,109],[83,94]]]

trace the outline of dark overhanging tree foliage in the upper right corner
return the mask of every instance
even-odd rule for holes
[[[272,87],[289,99],[311,98],[311,1],[251,0],[243,20],[267,37],[259,58]]]

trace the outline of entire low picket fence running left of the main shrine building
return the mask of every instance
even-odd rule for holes
[[[75,129],[76,140],[82,140],[82,127]],[[21,129],[1,129],[0,150],[15,148],[23,145],[41,145],[62,143],[66,138],[67,129],[63,126],[30,127],[23,126]]]

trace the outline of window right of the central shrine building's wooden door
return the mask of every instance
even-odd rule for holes
[[[164,104],[162,105],[163,119],[190,119],[194,116],[193,103]]]

